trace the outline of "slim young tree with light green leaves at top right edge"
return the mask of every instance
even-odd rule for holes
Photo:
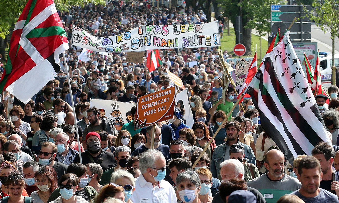
[[[324,32],[331,33],[332,39],[332,85],[335,85],[336,71],[334,66],[335,39],[339,39],[339,0],[326,0],[313,3],[314,11],[318,15],[310,16],[318,27]]]

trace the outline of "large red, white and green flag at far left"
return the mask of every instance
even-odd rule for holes
[[[60,71],[59,54],[68,49],[53,0],[28,0],[12,33],[0,92],[24,104]]]

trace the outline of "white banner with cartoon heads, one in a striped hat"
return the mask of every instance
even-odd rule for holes
[[[125,123],[133,120],[130,110],[136,106],[135,104],[122,101],[102,99],[91,99],[89,104],[91,107],[97,107],[99,109],[101,120],[104,118],[113,120],[118,132]]]

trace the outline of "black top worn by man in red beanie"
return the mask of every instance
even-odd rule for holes
[[[117,166],[117,164],[115,163],[115,160],[114,160],[114,155],[111,152],[107,152],[107,151],[102,150],[101,154],[99,154],[96,157],[93,157],[91,154],[89,154],[88,151],[85,151],[85,152],[81,153],[81,156],[82,156],[82,164],[84,164],[84,165],[86,165],[87,163],[92,163],[89,156],[92,157],[92,159],[94,160],[94,163],[99,163],[99,158],[102,158],[102,162],[101,162],[100,165],[101,165],[103,171]],[[80,163],[79,154],[77,156],[75,156],[73,163]]]

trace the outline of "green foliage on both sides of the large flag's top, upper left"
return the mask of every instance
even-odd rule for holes
[[[105,4],[104,0],[55,0],[55,5],[59,11],[66,11],[71,6],[84,6],[88,3]],[[27,0],[0,0],[0,37],[5,38],[9,34],[9,29],[18,20]]]

